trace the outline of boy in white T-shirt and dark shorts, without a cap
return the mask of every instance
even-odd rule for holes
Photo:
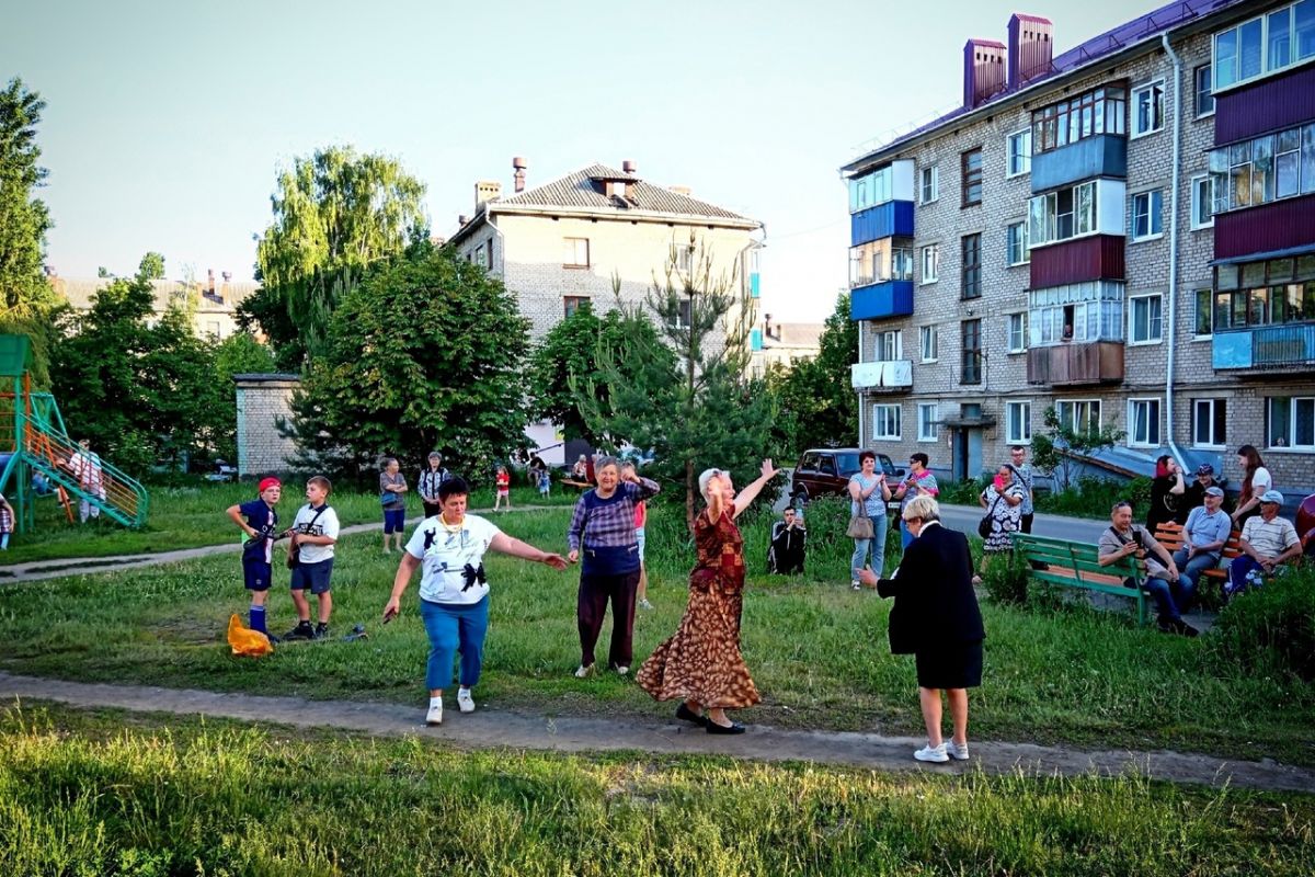
[[[333,613],[333,552],[338,542],[338,513],[329,505],[333,485],[322,475],[306,481],[306,505],[297,510],[288,540],[288,565],[292,567],[292,602],[297,607],[297,626],[284,639],[323,639],[329,635]],[[293,563],[293,559],[296,561]],[[320,623],[310,626],[310,604],[306,590],[316,596]]]

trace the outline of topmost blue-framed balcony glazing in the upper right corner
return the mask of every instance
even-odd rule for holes
[[[1214,91],[1315,58],[1315,0],[1301,0],[1215,34]]]

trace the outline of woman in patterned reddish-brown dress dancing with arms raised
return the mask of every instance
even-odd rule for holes
[[[729,472],[707,469],[698,476],[707,509],[694,519],[698,561],[689,575],[689,605],[676,632],[635,677],[654,699],[681,698],[676,718],[700,724],[709,734],[743,734],[744,726],[731,722],[726,710],[761,699],[739,650],[744,539],[735,517],[776,472],[771,460],[763,460],[761,475],[739,496]]]

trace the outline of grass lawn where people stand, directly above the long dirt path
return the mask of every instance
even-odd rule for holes
[[[567,509],[498,518],[512,535],[564,548]],[[782,727],[920,734],[911,657],[886,643],[889,601],[848,589],[852,543],[811,536],[814,576],[761,573],[769,521],[746,523],[750,586],[744,653],[764,703],[748,722]],[[643,660],[676,627],[692,550],[668,513],[650,518],[650,598],[635,621]],[[423,703],[427,642],[416,584],[397,622],[379,617],[397,555],[373,534],[347,538],[334,569],[334,627],[370,626],[364,643],[293,643],[259,660],[224,643],[230,613],[246,611],[235,557],[125,571],[113,576],[0,585],[0,668],[85,681],[147,682],[313,698]],[[665,717],[633,680],[576,680],[577,571],[555,572],[497,555],[487,563],[492,626],[480,701],[547,714]],[[285,571],[276,582],[287,581]],[[1210,638],[1189,640],[1127,618],[1070,609],[1059,614],[984,604],[986,675],[972,694],[976,739],[1160,748],[1315,764],[1315,690],[1294,678],[1218,665]],[[293,621],[276,584],[271,628]],[[610,628],[610,626],[609,626]],[[605,638],[606,630],[605,628]],[[606,642],[606,640],[604,640]],[[600,655],[605,655],[604,651]]]

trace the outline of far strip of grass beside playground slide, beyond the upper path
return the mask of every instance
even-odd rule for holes
[[[414,489],[414,481],[409,483]],[[283,500],[279,502],[281,521],[292,523],[297,509],[306,501],[304,488],[304,484],[284,486]],[[139,530],[129,530],[108,518],[93,519],[85,525],[68,523],[63,506],[53,496],[41,497],[37,501],[36,530],[14,534],[9,540],[9,551],[0,552],[0,564],[146,554],[238,542],[242,534],[224,511],[235,502],[255,498],[254,484],[200,483],[196,486],[155,486],[149,490],[150,518]],[[512,502],[515,505],[568,505],[575,502],[576,496],[575,490],[564,493],[559,485],[554,485],[552,493],[544,501],[533,488],[525,485],[512,488]],[[383,522],[377,493],[341,490],[330,497],[330,504],[337,509],[343,526]],[[493,489],[477,490],[472,496],[472,505],[492,508]],[[74,515],[76,514],[75,504]],[[408,517],[422,514],[419,497],[413,496],[408,500],[406,514]]]

